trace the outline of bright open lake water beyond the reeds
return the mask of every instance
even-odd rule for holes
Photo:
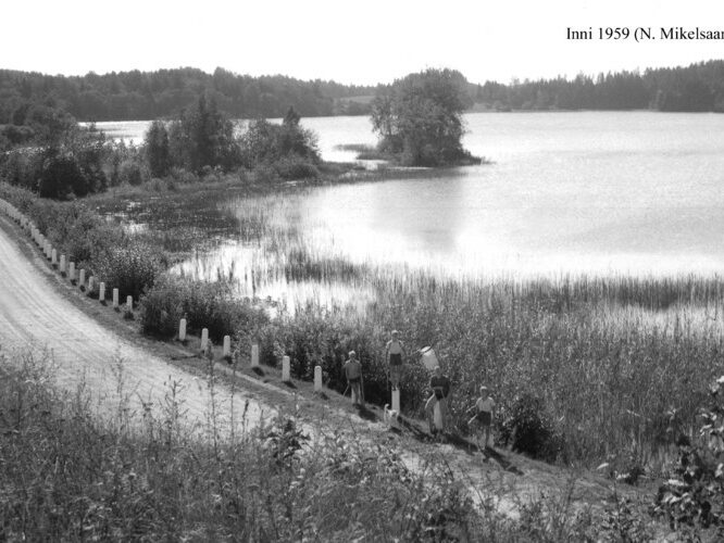
[[[491,164],[211,205],[240,218],[262,210],[294,225],[308,251],[352,262],[521,277],[724,269],[724,115],[465,118],[465,147]],[[353,157],[337,144],[375,141],[367,117],[302,122],[319,134],[327,160]],[[145,129],[139,123],[98,126],[125,137]],[[249,257],[249,247],[230,236],[205,255],[203,267],[226,269],[235,262],[241,269]],[[187,263],[192,269],[207,275],[198,262]]]

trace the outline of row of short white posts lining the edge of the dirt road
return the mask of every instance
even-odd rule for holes
[[[61,274],[67,274],[67,277],[71,281],[76,280],[75,263],[67,262],[64,254],[59,255],[58,250],[51,245],[50,241],[42,233],[40,233],[40,230],[35,226],[35,224],[33,224],[33,222],[28,217],[26,217],[23,213],[21,213],[10,202],[7,202],[1,199],[0,199],[0,210],[2,210],[8,216],[10,216],[13,220],[15,220],[15,223],[17,223],[24,230],[30,233],[33,240],[36,242],[36,244],[46,255],[46,258],[50,261],[50,264],[52,266],[58,266],[58,269]],[[78,287],[79,288],[86,287],[86,270],[80,269],[77,275],[78,275],[77,277]],[[93,276],[90,276],[88,278],[88,285],[86,289],[88,292],[93,292],[95,288],[96,288],[96,278]],[[105,283],[103,281],[98,283],[98,300],[100,302],[105,301]],[[113,289],[112,291],[112,303],[114,310],[120,307],[118,289]],[[132,312],[133,306],[134,306],[133,296],[127,296],[126,311]],[[186,325],[187,325],[186,319],[182,318],[178,325],[178,339],[180,341],[186,341]],[[208,344],[209,344],[209,329],[204,328],[203,330],[201,330],[201,351],[205,351]],[[228,336],[224,336],[223,356],[225,358],[229,358],[232,356],[232,338]],[[251,345],[251,367],[252,368],[259,367],[259,345],[257,344]],[[282,359],[282,380],[284,382],[291,381],[289,356],[285,356]],[[322,391],[322,366],[314,367],[314,391],[315,392]],[[398,413],[400,411],[399,390],[392,391],[392,409],[397,409]]]

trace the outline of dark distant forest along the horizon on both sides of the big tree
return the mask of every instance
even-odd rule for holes
[[[377,87],[252,77],[223,68],[121,72],[84,76],[0,70],[0,125],[23,125],[34,104],[63,110],[78,121],[172,117],[205,93],[232,117],[366,115]],[[724,61],[687,67],[620,72],[597,77],[469,84],[470,105],[509,110],[724,111]]]

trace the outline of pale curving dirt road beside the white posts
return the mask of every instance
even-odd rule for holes
[[[10,226],[4,217],[5,228]],[[12,230],[10,230],[12,231]],[[21,239],[20,243],[25,242]],[[132,344],[64,298],[52,283],[53,274],[28,260],[22,245],[0,228],[0,348],[39,357],[43,352],[55,366],[57,383],[75,393],[84,386],[100,412],[113,414],[121,402],[130,409],[151,405],[161,409],[172,383],[178,384],[177,400],[183,402],[191,425],[203,425],[211,405],[208,382],[168,364]],[[34,258],[40,258],[34,252]],[[121,384],[121,387],[120,387]],[[273,416],[273,409],[252,394],[217,386],[214,400],[226,420],[236,420],[250,400],[248,422]],[[232,405],[234,412],[232,412]],[[160,414],[159,414],[160,415]]]

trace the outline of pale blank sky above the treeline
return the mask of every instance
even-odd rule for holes
[[[427,67],[473,83],[724,59],[724,40],[569,40],[566,29],[724,31],[716,0],[7,0],[0,68],[104,74],[217,66],[345,84]]]

